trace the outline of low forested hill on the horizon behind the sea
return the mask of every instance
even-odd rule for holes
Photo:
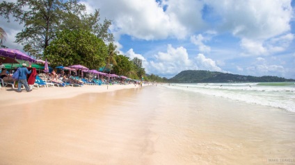
[[[250,83],[250,82],[289,82],[294,79],[279,78],[277,76],[241,76],[218,71],[188,70],[178,73],[168,79],[170,83]]]

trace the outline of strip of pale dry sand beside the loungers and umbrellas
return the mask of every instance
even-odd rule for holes
[[[143,85],[143,87],[144,86],[145,85]],[[140,86],[134,84],[83,85],[83,87],[34,87],[32,92],[26,92],[25,89],[22,89],[21,93],[16,92],[17,89],[13,89],[12,87],[2,87],[0,89],[0,94],[2,96],[0,100],[0,105],[1,107],[6,107],[50,99],[73,98],[74,96],[78,96],[81,94],[113,92],[115,90],[132,89],[139,87]]]

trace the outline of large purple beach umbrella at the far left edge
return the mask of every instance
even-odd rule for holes
[[[25,60],[29,62],[36,63],[37,61],[33,58],[31,58],[29,55],[26,55],[25,53],[22,53],[21,51],[17,49],[0,49],[0,56],[7,57],[7,58],[14,58],[17,60]]]

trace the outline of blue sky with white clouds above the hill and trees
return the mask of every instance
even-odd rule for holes
[[[147,73],[171,78],[209,70],[295,78],[291,0],[83,0],[113,20],[118,51],[141,58]],[[3,28],[14,37],[20,28]],[[9,36],[8,36],[9,37]],[[10,37],[10,38],[13,38]],[[14,39],[9,39],[13,42]],[[9,46],[9,44],[6,44]],[[10,48],[21,47],[12,43]],[[17,49],[15,48],[15,49]]]

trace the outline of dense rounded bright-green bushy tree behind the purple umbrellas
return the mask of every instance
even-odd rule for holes
[[[82,64],[89,69],[98,69],[106,64],[108,47],[88,31],[65,30],[58,33],[44,54],[52,66]]]

